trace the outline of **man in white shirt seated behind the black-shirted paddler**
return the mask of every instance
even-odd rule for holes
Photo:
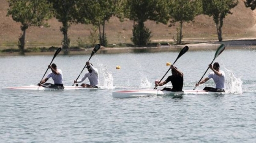
[[[209,64],[209,69],[211,69],[213,72],[211,72],[207,77],[202,79],[199,84],[196,83],[196,87],[200,84],[207,82],[209,79],[213,79],[215,82],[215,88],[213,87],[204,87],[203,90],[212,91],[212,92],[225,92],[226,85],[225,85],[225,72],[220,70],[220,65],[218,62],[215,62],[212,66],[212,64]]]

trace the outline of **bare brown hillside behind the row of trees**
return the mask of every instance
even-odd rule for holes
[[[20,23],[16,23],[11,17],[6,17],[8,2],[0,0],[0,49],[17,48]],[[230,39],[252,39],[256,37],[256,12],[246,8],[243,0],[231,10],[232,15],[226,16],[223,25],[223,40]],[[185,23],[183,26],[183,41],[210,41],[218,40],[216,27],[212,17],[197,16],[195,22]],[[59,46],[63,39],[60,32],[61,23],[56,19],[50,19],[50,27],[29,27],[26,33],[26,47],[31,46]],[[133,21],[120,22],[113,17],[106,23],[106,36],[109,44],[131,43]],[[155,24],[147,21],[145,26],[152,32],[152,42],[170,42],[176,37],[176,26],[168,27],[164,24]],[[77,45],[76,40],[80,37],[88,41],[92,26],[83,24],[72,24],[68,31],[71,45]]]

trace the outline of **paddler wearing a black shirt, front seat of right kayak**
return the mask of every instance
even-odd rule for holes
[[[157,86],[163,86],[168,82],[172,82],[172,88],[166,88],[164,87],[163,90],[168,90],[168,91],[182,91],[183,87],[183,73],[177,69],[177,67],[171,65],[172,69],[172,75],[167,77],[167,79],[161,83],[159,81],[155,81],[155,87]]]

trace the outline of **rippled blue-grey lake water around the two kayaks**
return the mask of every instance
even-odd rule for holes
[[[153,89],[155,79],[161,79],[169,69],[166,63],[173,63],[178,54],[96,54],[90,62],[100,73],[103,89],[99,90],[1,91],[0,140],[3,143],[255,142],[256,51],[250,47],[225,50],[215,59],[226,73],[225,95],[112,98],[112,92],[117,90]],[[184,90],[194,88],[214,54],[215,50],[188,50],[177,60],[175,66],[184,73]],[[36,85],[52,57],[0,57],[0,88]],[[54,59],[63,71],[65,85],[73,84],[89,57]],[[204,86],[215,85],[211,79],[198,89]]]

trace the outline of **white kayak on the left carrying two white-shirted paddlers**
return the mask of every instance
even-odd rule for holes
[[[37,85],[20,86],[20,87],[3,87],[2,90],[97,90],[99,88],[86,88],[81,86],[65,86],[64,88],[49,88]]]

